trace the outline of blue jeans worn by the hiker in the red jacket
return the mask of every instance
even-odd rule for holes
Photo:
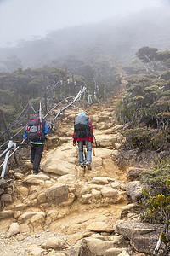
[[[84,165],[84,157],[83,157],[84,144],[86,145],[86,148],[87,148],[86,163],[91,164],[92,162],[92,143],[88,141],[78,141],[80,165]]]

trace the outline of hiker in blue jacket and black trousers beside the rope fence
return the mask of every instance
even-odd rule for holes
[[[33,120],[34,122],[32,126],[29,124],[30,120]],[[41,125],[42,127],[40,127],[40,129],[37,127],[38,125],[36,122],[39,120],[39,113],[30,120],[23,135],[22,143],[26,143],[26,140],[31,142],[31,163],[33,164],[33,173],[37,174],[42,159],[45,136],[48,134],[48,124],[45,119],[42,119],[42,124],[41,122],[38,122],[38,125]],[[36,129],[36,131],[39,129],[39,131],[31,132],[30,126],[33,127],[33,129]]]

